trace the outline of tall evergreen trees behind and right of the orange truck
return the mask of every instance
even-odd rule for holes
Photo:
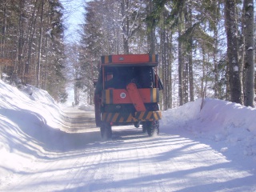
[[[211,97],[254,106],[253,0],[86,2],[79,87],[90,103],[104,54],[159,54],[166,110]]]

